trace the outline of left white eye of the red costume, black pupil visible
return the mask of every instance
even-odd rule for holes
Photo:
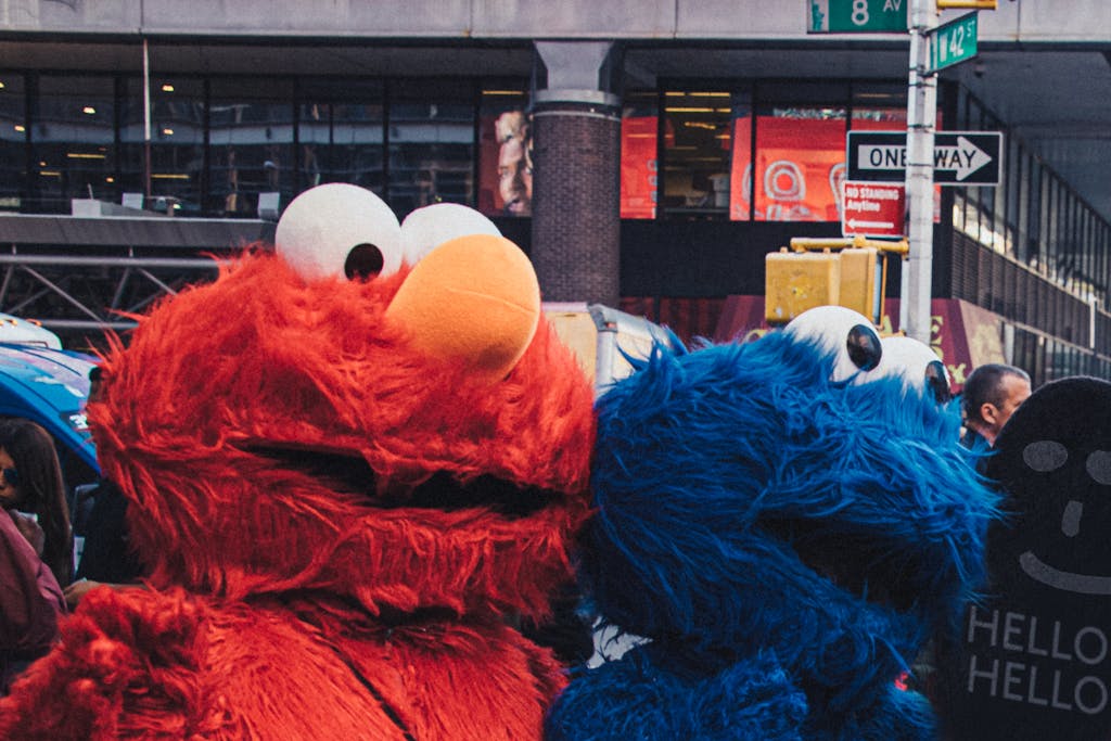
[[[401,268],[401,226],[382,199],[358,186],[311,188],[286,207],[278,254],[306,280],[368,280]]]

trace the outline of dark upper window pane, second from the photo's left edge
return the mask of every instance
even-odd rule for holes
[[[70,200],[114,200],[116,93],[110,77],[42,76],[32,118],[33,198],[46,212]]]

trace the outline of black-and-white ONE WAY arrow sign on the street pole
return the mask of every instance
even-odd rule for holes
[[[850,131],[848,180],[902,182],[907,178],[905,131]],[[998,131],[938,131],[933,134],[933,182],[998,186],[1003,134]]]

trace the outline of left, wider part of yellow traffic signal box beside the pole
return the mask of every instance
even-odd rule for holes
[[[789,322],[807,309],[837,304],[841,298],[841,259],[829,250],[790,252],[784,247],[764,257],[764,318]]]

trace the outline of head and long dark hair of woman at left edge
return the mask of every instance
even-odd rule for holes
[[[64,589],[73,579],[73,533],[53,438],[26,419],[0,422],[0,507],[31,515],[44,541],[40,555]]]

